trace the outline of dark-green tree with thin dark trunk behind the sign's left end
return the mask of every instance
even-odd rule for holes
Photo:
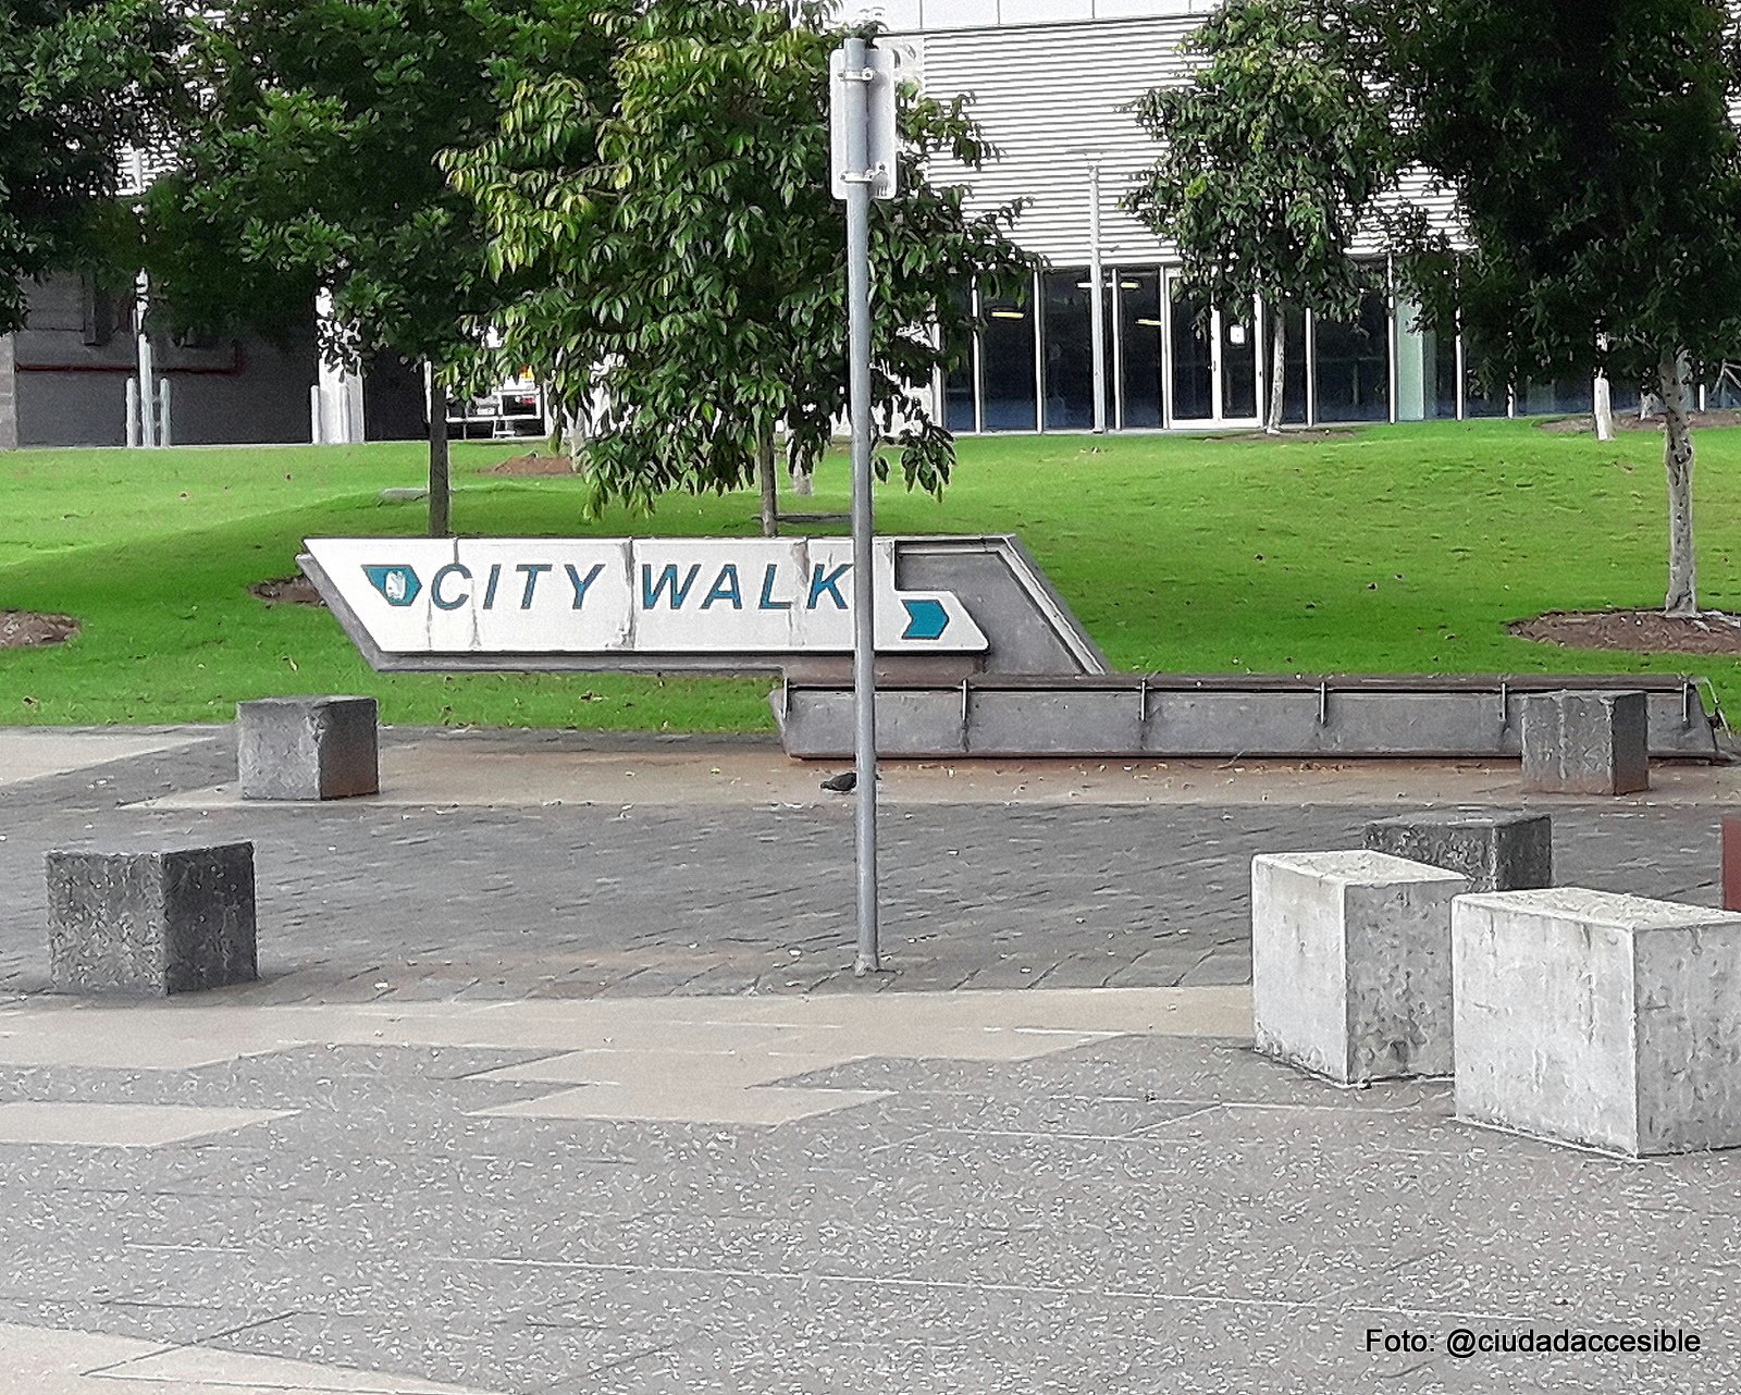
[[[151,200],[151,270],[181,320],[270,320],[326,289],[324,354],[427,371],[432,535],[451,531],[449,392],[501,294],[435,155],[494,127],[498,63],[534,42],[540,9],[232,0],[193,45],[202,110]]]

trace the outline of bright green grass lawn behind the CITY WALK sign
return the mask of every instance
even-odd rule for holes
[[[571,479],[482,474],[514,446],[454,449],[463,533],[754,533],[752,495],[580,519]],[[1701,601],[1734,610],[1741,430],[1699,435]],[[383,676],[324,611],[251,582],[312,535],[416,535],[421,448],[0,455],[0,610],[77,617],[66,646],[0,651],[0,723],[226,721],[239,698],[360,691],[393,723],[768,730],[768,683],[611,676]],[[817,500],[846,507],[830,462]],[[1661,439],[1529,421],[1332,439],[970,439],[942,503],[879,493],[884,533],[1018,533],[1114,664],[1184,672],[1708,674],[1741,662],[1513,639],[1543,610],[1652,606],[1664,583]]]

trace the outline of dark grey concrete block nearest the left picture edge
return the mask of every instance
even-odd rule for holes
[[[192,993],[259,977],[254,845],[50,852],[49,963],[71,993]]]

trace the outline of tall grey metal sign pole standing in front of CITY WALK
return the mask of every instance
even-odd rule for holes
[[[876,974],[876,535],[870,498],[870,185],[865,42],[846,40],[846,317],[853,427],[853,770],[857,772],[858,954],[853,974]]]

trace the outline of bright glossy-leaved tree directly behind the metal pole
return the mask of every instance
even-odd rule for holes
[[[846,414],[844,206],[829,188],[823,3],[646,0],[606,19],[595,85],[528,63],[493,141],[447,157],[522,293],[498,327],[555,397],[595,404],[592,507],[808,479]],[[557,56],[559,57],[559,56]],[[601,101],[599,94],[608,101]],[[902,186],[872,207],[872,397],[909,488],[942,491],[952,437],[924,388],[971,343],[956,293],[1025,279],[1015,209],[968,214],[949,167],[989,155],[963,99],[900,94]],[[888,463],[877,456],[879,474]]]

